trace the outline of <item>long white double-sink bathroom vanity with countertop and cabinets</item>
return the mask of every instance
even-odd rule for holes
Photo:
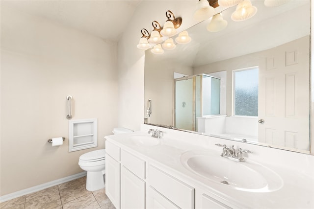
[[[161,130],[161,139],[150,129]],[[142,125],[106,136],[105,190],[125,208],[314,208],[314,156]],[[245,162],[221,157],[234,145]]]

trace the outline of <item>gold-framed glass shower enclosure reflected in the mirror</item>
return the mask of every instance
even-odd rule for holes
[[[206,74],[174,80],[174,126],[197,131],[197,118],[220,114],[220,79]]]

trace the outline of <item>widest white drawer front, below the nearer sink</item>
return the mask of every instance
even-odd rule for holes
[[[194,188],[153,165],[148,168],[148,181],[158,192],[182,209],[194,209]]]

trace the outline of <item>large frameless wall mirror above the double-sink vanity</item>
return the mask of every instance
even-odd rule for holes
[[[221,12],[225,29],[209,32],[210,20],[203,21],[187,29],[189,44],[161,55],[145,51],[145,123],[310,153],[311,1],[252,4],[258,12],[246,21],[232,21],[235,6],[230,7]],[[176,79],[200,74],[220,81],[220,95],[212,95],[219,113],[176,116]],[[177,104],[185,111],[191,105]],[[176,127],[186,115],[194,117],[195,129]]]

